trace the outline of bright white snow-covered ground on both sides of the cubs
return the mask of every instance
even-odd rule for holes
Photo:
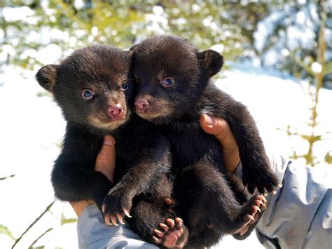
[[[15,177],[0,181],[0,224],[8,227],[15,238],[38,217],[53,201],[50,170],[60,152],[59,144],[64,134],[64,120],[60,109],[34,80],[35,72],[18,68],[4,68],[0,74],[0,177]],[[276,154],[292,154],[292,147],[300,154],[307,144],[296,137],[288,137],[282,130],[287,125],[307,131],[310,98],[303,94],[305,83],[300,84],[291,76],[253,67],[250,63],[237,64],[224,72],[226,79],[216,84],[249,107],[258,123],[269,151]],[[332,91],[321,90],[317,133],[332,131]],[[323,158],[332,148],[330,137],[318,142],[314,154]],[[321,163],[324,167],[323,163]],[[36,245],[46,248],[77,248],[76,223],[60,224],[62,214],[75,217],[71,208],[56,202],[36,225],[23,236],[15,248],[27,248],[44,231],[54,227]],[[0,247],[11,248],[13,239],[0,234]],[[35,246],[36,246],[35,245]],[[217,248],[263,248],[252,234],[245,241],[235,241],[228,236]]]

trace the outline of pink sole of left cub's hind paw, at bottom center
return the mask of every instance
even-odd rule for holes
[[[157,245],[162,245],[166,248],[174,248],[178,245],[178,239],[183,234],[184,222],[178,217],[175,220],[166,219],[165,223],[158,225],[159,229],[153,230],[152,239]]]

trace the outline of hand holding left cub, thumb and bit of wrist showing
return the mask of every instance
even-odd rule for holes
[[[111,182],[114,181],[114,169],[116,165],[116,140],[110,135],[104,137],[104,144],[97,156],[95,163],[95,171],[99,171],[106,175]],[[71,207],[74,209],[77,216],[80,216],[83,210],[93,204],[93,201],[78,201],[71,202]]]

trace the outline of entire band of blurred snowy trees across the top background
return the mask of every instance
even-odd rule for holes
[[[316,61],[326,13],[326,62],[332,61],[331,8],[314,0],[2,0],[0,63],[32,68],[91,43],[129,48],[146,36],[177,34],[202,49],[213,46],[228,61],[259,58],[312,78],[293,57],[309,66]],[[327,68],[331,72],[331,63]],[[324,76],[326,86],[331,80]]]

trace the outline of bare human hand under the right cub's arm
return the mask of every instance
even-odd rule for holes
[[[226,168],[229,172],[234,172],[240,163],[240,154],[228,123],[224,119],[202,114],[200,116],[200,126],[206,133],[214,135],[219,140],[223,147],[223,159]]]

